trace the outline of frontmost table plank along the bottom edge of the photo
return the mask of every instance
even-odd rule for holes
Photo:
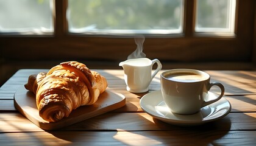
[[[255,145],[256,131],[43,131],[0,133],[3,145]]]

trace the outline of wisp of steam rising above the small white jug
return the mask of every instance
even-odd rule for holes
[[[133,59],[133,58],[143,58],[146,57],[146,54],[143,53],[143,43],[144,43],[144,36],[140,36],[137,38],[134,38],[135,43],[137,44],[137,49],[130,54],[127,59]]]

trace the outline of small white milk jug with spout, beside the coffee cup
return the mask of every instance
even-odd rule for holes
[[[152,67],[157,63],[157,69],[152,74]],[[129,59],[119,63],[124,69],[124,81],[126,89],[130,92],[140,93],[149,90],[149,84],[158,71],[162,69],[162,64],[158,59],[149,58]]]

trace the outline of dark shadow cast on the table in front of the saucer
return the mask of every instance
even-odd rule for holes
[[[188,144],[188,145],[209,145],[218,141],[229,133],[231,122],[226,119],[225,122],[209,122],[203,125],[192,127],[180,127],[169,125],[161,120],[155,119],[155,124],[162,130],[168,127],[166,131],[160,131],[158,137],[162,139],[163,144]],[[224,123],[224,124],[223,124]],[[165,137],[168,135],[168,137]]]

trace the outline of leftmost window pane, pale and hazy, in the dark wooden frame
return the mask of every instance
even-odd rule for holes
[[[51,0],[0,0],[0,32],[53,32]]]

